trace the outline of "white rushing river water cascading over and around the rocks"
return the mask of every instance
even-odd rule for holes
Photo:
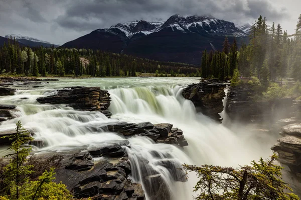
[[[156,144],[145,137],[130,138],[131,148],[128,148],[128,153],[132,178],[141,182],[145,173],[159,173],[168,189],[173,191],[171,199],[192,199],[196,179],[190,176],[185,183],[173,181],[175,174],[163,163],[173,163],[177,167],[181,167],[182,163],[227,166],[249,164],[253,159],[270,155],[269,147],[275,142],[258,141],[246,130],[231,131],[223,124],[217,124],[203,114],[196,113],[193,103],[181,94],[183,87],[192,82],[198,82],[198,79],[61,79],[44,84],[42,89],[20,89],[16,95],[0,97],[0,104],[15,104],[20,110],[16,113],[17,118],[1,123],[0,131],[14,129],[15,123],[21,120],[26,128],[35,132],[36,139],[42,139],[46,144],[42,149],[36,148],[36,152],[66,151],[124,140],[124,137],[116,133],[97,128],[108,122],[172,123],[174,127],[183,130],[189,145],[183,151],[173,145]],[[64,105],[42,105],[36,101],[38,97],[55,94],[58,88],[78,85],[100,86],[109,90],[112,98],[109,108],[113,113],[111,119],[99,112],[76,111]],[[221,114],[226,116],[224,112]],[[152,168],[145,168],[143,160],[148,160],[147,166]],[[145,189],[151,185],[143,183],[143,187]]]

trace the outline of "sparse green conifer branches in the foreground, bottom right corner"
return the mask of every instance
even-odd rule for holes
[[[195,199],[277,199],[297,200],[299,197],[286,192],[292,189],[281,180],[283,167],[273,164],[277,156],[259,162],[252,161],[251,166],[238,168],[213,165],[184,164],[182,170],[197,173],[199,181],[194,187],[198,194]]]

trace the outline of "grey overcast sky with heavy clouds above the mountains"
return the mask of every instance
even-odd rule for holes
[[[252,24],[260,14],[293,33],[301,0],[0,0],[0,35],[22,34],[63,44],[122,21],[210,14]]]

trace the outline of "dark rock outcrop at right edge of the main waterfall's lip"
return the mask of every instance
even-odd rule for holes
[[[191,100],[197,111],[221,121],[220,112],[223,111],[223,98],[226,96],[226,84],[218,79],[201,81],[183,89],[183,96]]]

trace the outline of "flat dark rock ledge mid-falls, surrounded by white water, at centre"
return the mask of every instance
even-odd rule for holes
[[[95,131],[106,130],[117,132],[125,137],[134,135],[147,136],[158,143],[175,144],[181,147],[188,145],[183,131],[179,128],[173,128],[173,124],[170,123],[152,124],[150,122],[143,122],[136,124],[118,122],[91,128],[97,128]]]

